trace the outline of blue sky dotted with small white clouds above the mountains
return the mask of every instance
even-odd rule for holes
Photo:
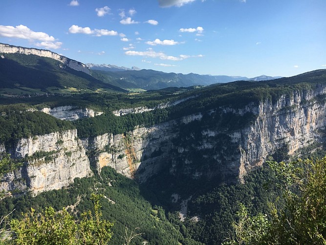
[[[326,69],[326,0],[1,0],[0,43],[83,63],[291,76]]]

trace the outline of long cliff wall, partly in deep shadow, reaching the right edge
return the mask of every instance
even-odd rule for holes
[[[163,169],[171,175],[192,178],[243,179],[267,156],[286,145],[289,154],[322,141],[326,126],[326,103],[315,99],[326,94],[326,87],[314,91],[294,91],[275,102],[261,101],[241,109],[217,108],[205,112],[206,117],[221,113],[244,116],[254,120],[241,128],[231,129],[206,125],[202,114],[162,123],[149,128],[137,128],[126,135],[106,134],[84,139],[92,149],[93,164],[100,171],[111,166],[118,172],[143,182]],[[137,113],[134,111],[133,113]],[[184,128],[189,132],[184,133]]]

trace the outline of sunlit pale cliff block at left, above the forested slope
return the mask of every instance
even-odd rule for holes
[[[32,191],[37,194],[60,189],[68,186],[76,177],[92,174],[76,130],[22,139],[11,155],[17,159],[30,156],[20,169],[2,177],[0,190],[11,193]]]

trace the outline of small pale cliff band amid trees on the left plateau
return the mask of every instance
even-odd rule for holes
[[[54,108],[44,107],[41,109],[46,114],[49,114],[60,120],[75,121],[81,118],[93,118],[103,114],[103,112],[94,111],[89,108],[78,108],[76,106],[66,105]]]

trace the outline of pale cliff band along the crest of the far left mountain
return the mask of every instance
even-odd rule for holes
[[[23,48],[23,47],[17,47],[9,44],[0,43],[0,53],[35,54],[41,57],[48,57],[62,62],[66,66],[70,67],[71,69],[84,72],[90,75],[90,72],[85,64],[78,62],[76,60],[69,59],[65,56],[59,55],[50,50]]]

